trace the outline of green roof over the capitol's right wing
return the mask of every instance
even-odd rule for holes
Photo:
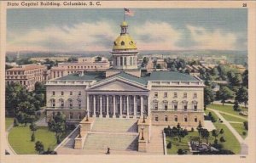
[[[148,81],[200,81],[194,76],[176,71],[153,71],[150,76],[146,76]]]

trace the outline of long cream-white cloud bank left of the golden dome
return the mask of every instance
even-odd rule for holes
[[[106,22],[82,23],[72,27],[49,26],[43,30],[32,30],[26,34],[9,35],[8,49],[38,50],[109,50],[116,33]]]

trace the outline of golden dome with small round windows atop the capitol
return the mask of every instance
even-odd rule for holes
[[[115,39],[113,42],[113,50],[131,50],[131,49],[137,49],[136,42],[133,41],[133,39],[125,33],[124,35],[120,35]]]

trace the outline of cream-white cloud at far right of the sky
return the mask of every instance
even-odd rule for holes
[[[231,32],[224,32],[219,29],[207,31],[205,28],[187,25],[190,31],[191,40],[196,45],[195,49],[236,49],[237,36]]]

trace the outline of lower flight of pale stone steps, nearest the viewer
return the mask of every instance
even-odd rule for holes
[[[137,150],[137,135],[88,133],[84,149]]]

